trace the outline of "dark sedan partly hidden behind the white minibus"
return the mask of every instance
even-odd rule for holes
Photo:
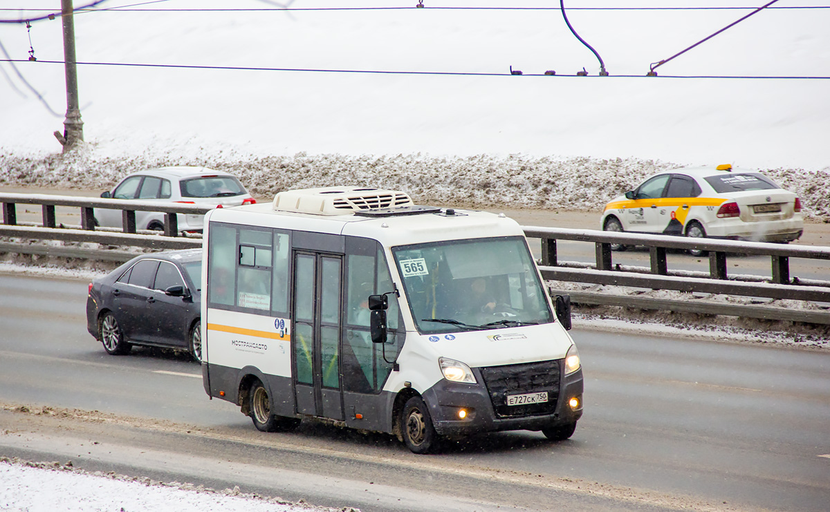
[[[86,329],[111,355],[149,345],[201,361],[201,283],[201,249],[143,254],[90,283]]]

